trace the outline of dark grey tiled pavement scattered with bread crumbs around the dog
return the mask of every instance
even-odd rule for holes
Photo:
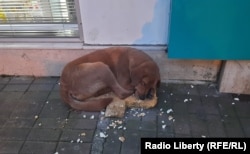
[[[164,84],[155,108],[124,118],[62,103],[59,78],[0,77],[0,153],[137,154],[141,137],[250,137],[250,96]]]

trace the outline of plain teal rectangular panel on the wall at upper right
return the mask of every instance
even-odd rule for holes
[[[250,0],[172,0],[168,57],[250,60]]]

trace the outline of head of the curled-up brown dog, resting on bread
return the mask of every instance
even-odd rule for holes
[[[160,85],[159,68],[154,62],[143,63],[131,70],[135,96],[141,100],[152,99]]]

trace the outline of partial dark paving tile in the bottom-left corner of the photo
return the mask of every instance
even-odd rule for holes
[[[0,141],[0,153],[14,154],[18,153],[24,141]]]

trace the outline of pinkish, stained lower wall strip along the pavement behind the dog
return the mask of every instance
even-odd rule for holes
[[[0,74],[60,76],[65,64],[95,49],[0,49]],[[162,82],[215,82],[221,61],[171,60],[164,50],[144,50],[160,68]]]

